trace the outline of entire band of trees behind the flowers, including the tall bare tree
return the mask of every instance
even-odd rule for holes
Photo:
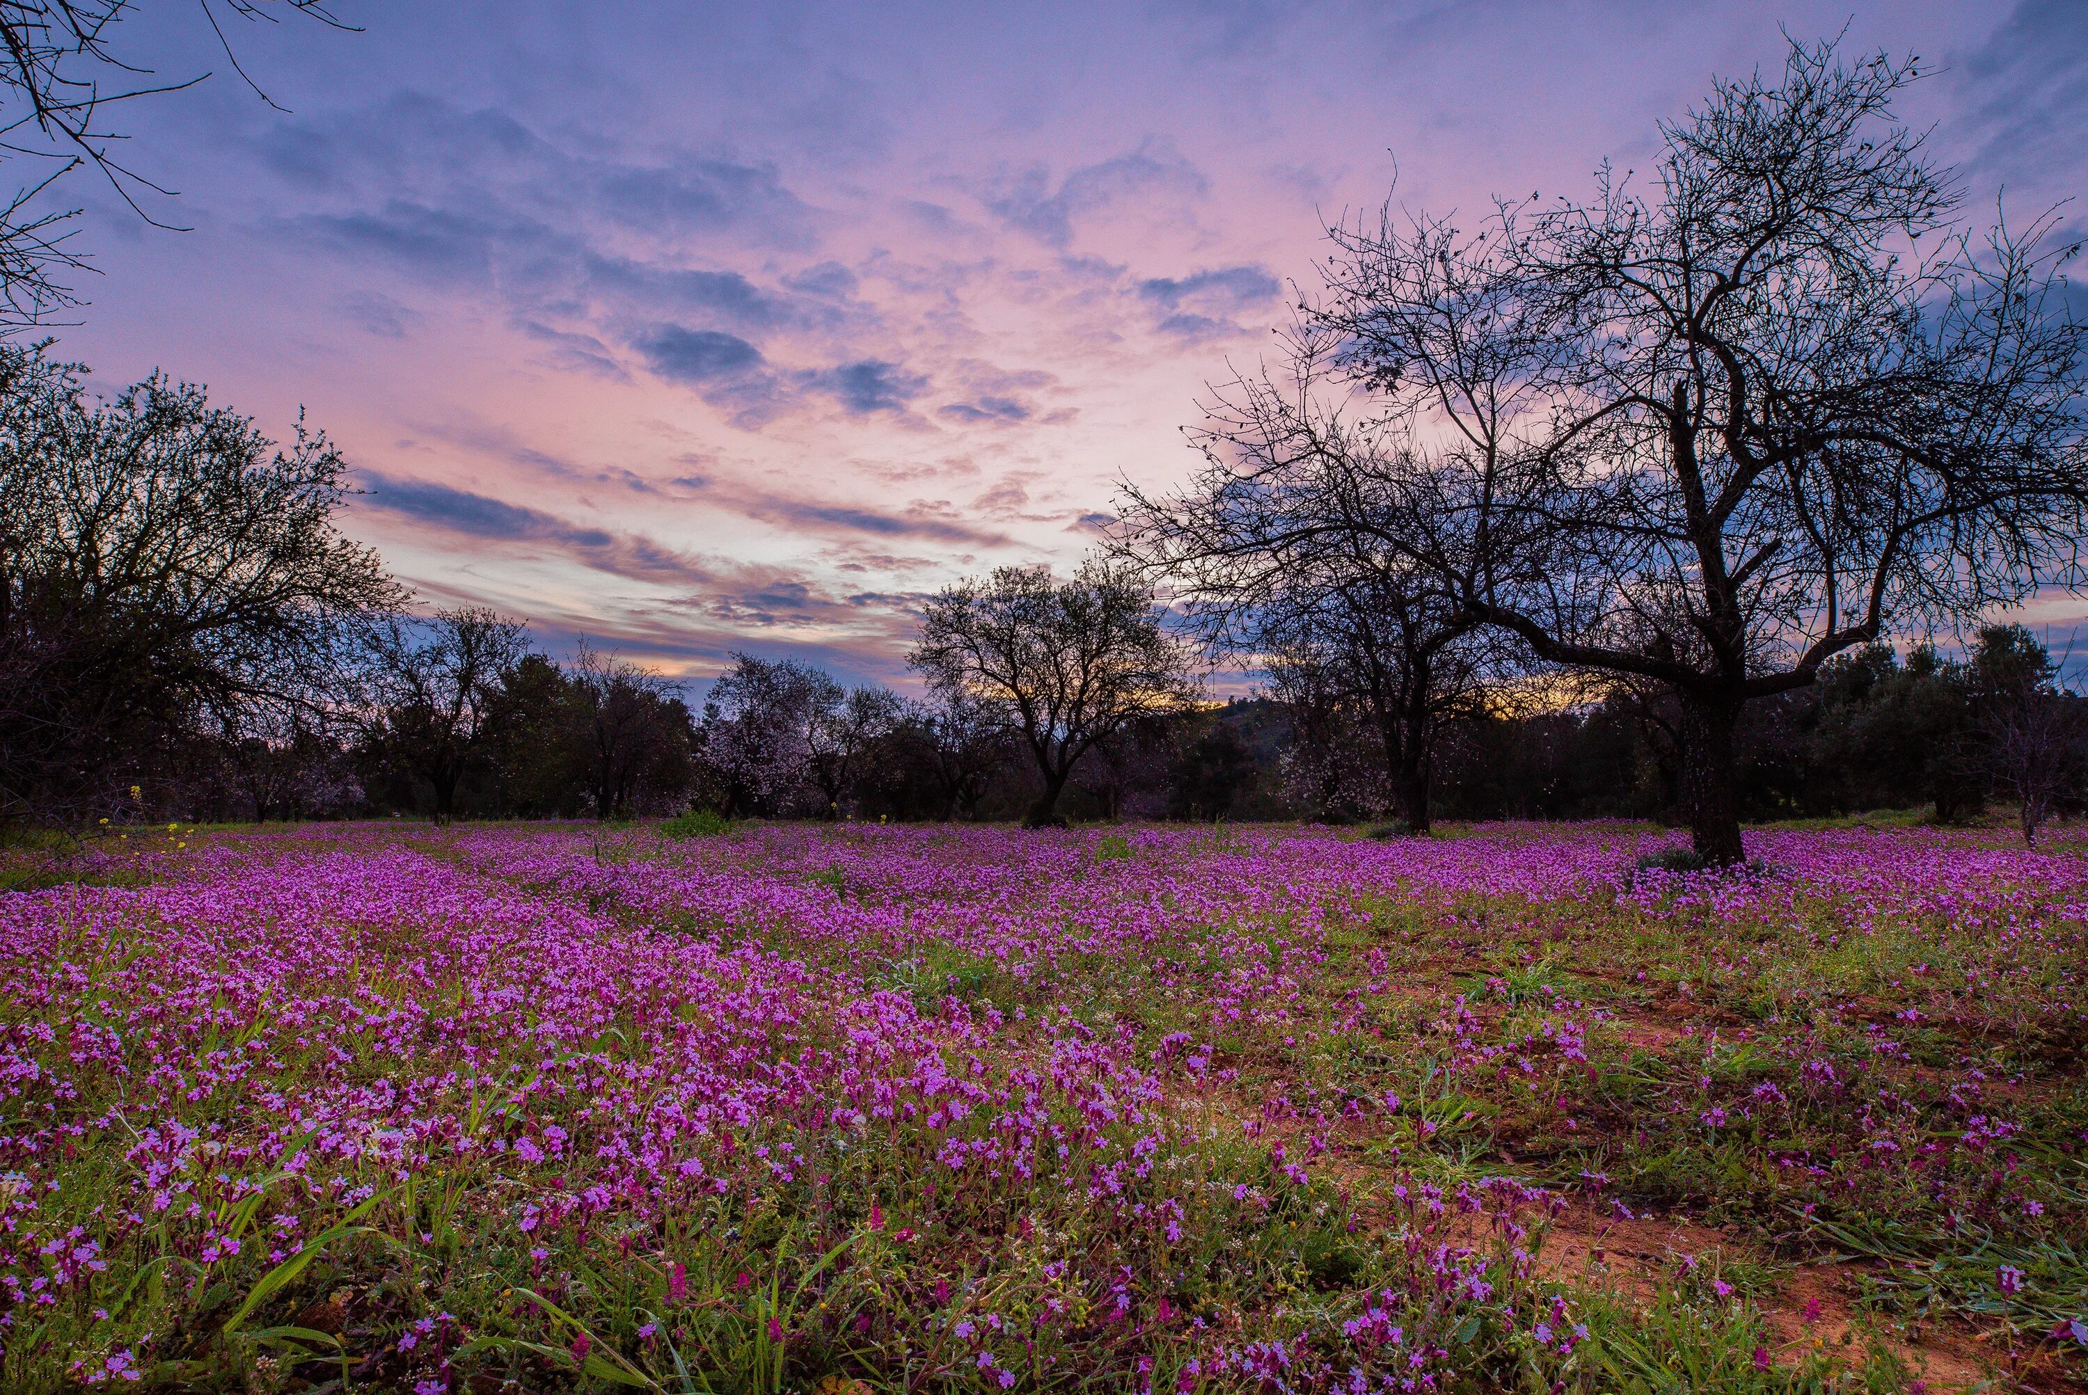
[[[2088,581],[2080,246],[1973,240],[1892,119],[1919,77],[1794,44],[1658,178],[1330,228],[1203,468],[1071,576],[929,599],[921,698],[739,656],[691,710],[407,618],[324,436],[0,347],[0,812],[1637,814],[1735,865],[1748,817],[2002,800],[2034,840],[2084,704],[1990,618]],[[1217,664],[1261,695],[1211,704]]]

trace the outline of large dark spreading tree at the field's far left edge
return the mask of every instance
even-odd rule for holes
[[[96,403],[0,345],[0,804],[81,814],[171,731],[326,720],[401,599],[334,526],[345,476],[303,424],[278,449],[165,378]]]

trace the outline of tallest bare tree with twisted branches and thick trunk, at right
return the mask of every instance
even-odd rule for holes
[[[1537,658],[1668,687],[1708,862],[1743,856],[1748,702],[2080,574],[2078,249],[1971,240],[1892,123],[1917,75],[1794,44],[1662,125],[1643,194],[1332,230],[1309,320],[1397,449],[1238,470],[1288,543],[1368,537]]]

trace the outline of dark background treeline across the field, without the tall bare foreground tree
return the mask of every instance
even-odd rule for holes
[[[923,695],[735,656],[691,704],[487,610],[413,618],[345,541],[345,466],[155,378],[109,403],[0,347],[8,819],[1685,819],[1672,691],[1460,635],[1416,683],[1370,608],[1288,626],[1251,698],[1121,564],[1006,568],[923,616]],[[1380,597],[1382,599],[1382,597]],[[1397,614],[1397,612],[1395,612]],[[1416,704],[1420,691],[1424,702]],[[1967,658],[1867,645],[1748,704],[1746,817],[2082,802],[2088,710],[2019,626]],[[1420,752],[1420,758],[1416,758]]]

